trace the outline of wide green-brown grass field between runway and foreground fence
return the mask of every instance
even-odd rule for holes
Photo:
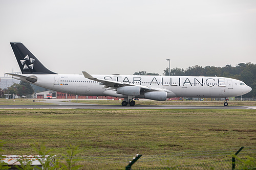
[[[256,150],[255,110],[1,109],[1,154],[35,154],[44,142],[57,156],[79,145],[83,169],[134,169],[231,159]],[[208,155],[208,156],[205,156]],[[210,157],[209,157],[210,156]]]

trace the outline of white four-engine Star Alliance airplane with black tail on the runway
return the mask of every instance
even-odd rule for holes
[[[93,96],[124,98],[122,106],[134,106],[135,98],[165,101],[168,98],[225,98],[251,91],[243,81],[225,77],[204,76],[138,76],[56,74],[50,71],[20,42],[10,42],[21,75],[13,78],[51,90]]]

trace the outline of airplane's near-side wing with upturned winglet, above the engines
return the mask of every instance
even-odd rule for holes
[[[139,86],[145,92],[148,92],[148,91],[166,91],[166,92],[170,92],[170,90],[165,89],[165,88],[154,88],[154,87],[147,87],[147,86],[142,86],[142,85],[137,85],[137,84],[130,84],[130,83],[123,83],[123,82],[112,81],[112,80],[98,79],[98,78],[95,78],[95,77],[91,76],[86,71],[82,71],[82,74],[87,79],[97,81],[97,82],[100,82],[102,85],[105,85],[103,88],[109,88],[109,87],[115,87],[116,88],[116,87],[122,87],[122,86]]]

